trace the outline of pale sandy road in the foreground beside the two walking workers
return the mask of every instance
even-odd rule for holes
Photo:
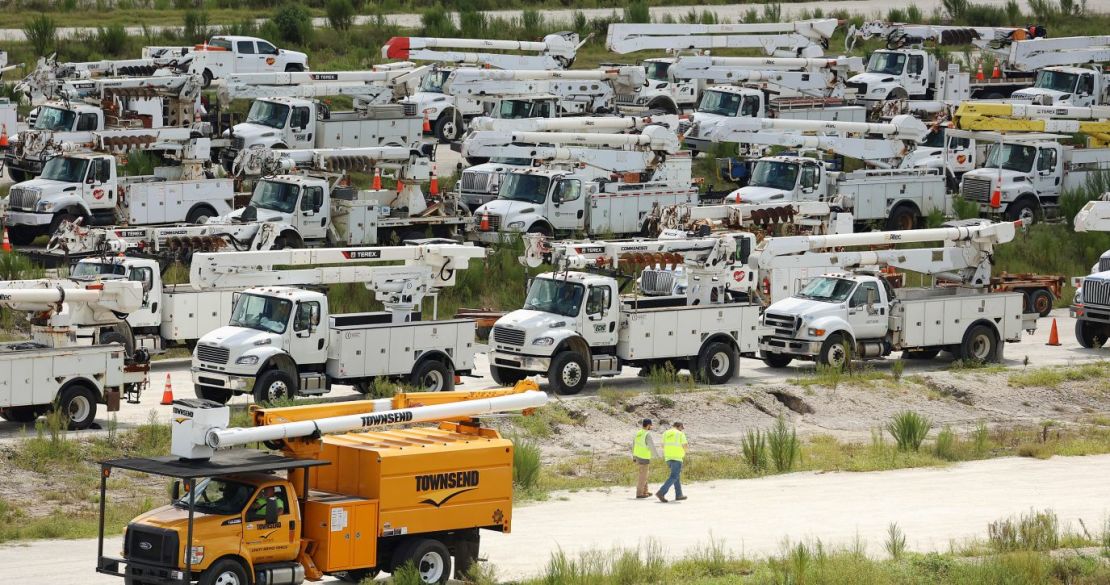
[[[513,533],[486,534],[483,554],[502,578],[534,575],[552,553],[635,547],[665,538],[680,556],[715,538],[749,556],[777,554],[784,541],[819,538],[846,546],[859,537],[884,555],[887,526],[897,522],[914,551],[986,538],[987,524],[1030,510],[1056,512],[1061,527],[1101,529],[1110,513],[1110,455],[1048,461],[1002,458],[947,468],[877,473],[797,473],[687,486],[689,500],[637,501],[629,490],[554,494],[516,508]],[[942,495],[942,497],[941,497]],[[108,551],[118,551],[113,541]],[[111,585],[94,573],[94,541],[0,545],[7,583]]]

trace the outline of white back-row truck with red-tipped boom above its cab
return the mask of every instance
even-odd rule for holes
[[[382,58],[495,69],[569,69],[584,42],[578,41],[575,32],[547,34],[542,41],[394,37],[382,47]],[[466,121],[485,113],[477,100],[447,91],[452,72],[451,67],[432,69],[424,75],[418,90],[402,100],[428,121],[428,130],[441,142],[458,140]]]

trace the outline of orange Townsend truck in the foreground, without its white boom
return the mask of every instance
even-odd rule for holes
[[[296,421],[299,409],[366,404],[258,410],[255,422],[260,412]],[[216,407],[175,401],[175,426]],[[367,414],[364,426],[404,423],[411,412]],[[97,571],[128,585],[299,585],[324,575],[357,583],[412,563],[423,583],[445,583],[476,561],[480,528],[509,531],[513,445],[476,421],[312,441],[311,450],[286,450],[296,456],[228,450],[208,460],[103,462],[101,502],[113,470],[174,483],[169,505],[128,524],[121,556],[104,554],[102,504]]]

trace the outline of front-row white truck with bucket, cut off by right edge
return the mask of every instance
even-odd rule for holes
[[[1110,198],[1089,201],[1076,214],[1077,232],[1110,232]],[[1102,347],[1110,341],[1110,250],[1099,256],[1091,273],[1076,279],[1076,297],[1069,312],[1076,319],[1076,340],[1083,347]]]

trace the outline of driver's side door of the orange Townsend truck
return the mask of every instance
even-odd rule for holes
[[[278,514],[268,518],[270,502]],[[284,485],[262,487],[251,497],[243,515],[243,546],[250,551],[255,565],[296,557],[301,527],[297,526],[295,506],[296,501],[290,497]]]

